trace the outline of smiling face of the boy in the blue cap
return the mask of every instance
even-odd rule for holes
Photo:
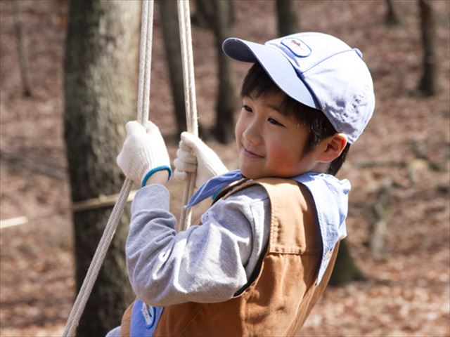
[[[309,131],[281,113],[283,93],[243,98],[236,124],[240,171],[247,178],[289,178],[314,171],[314,150],[304,153]]]

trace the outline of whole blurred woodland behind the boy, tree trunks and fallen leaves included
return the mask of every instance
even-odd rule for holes
[[[184,129],[175,4],[155,1],[150,92],[172,159]],[[218,53],[223,39],[324,32],[371,70],[375,113],[338,174],[352,183],[345,243],[356,269],[337,273],[301,336],[450,336],[450,1],[192,0],[191,15],[200,133],[230,169],[249,65]],[[2,337],[63,332],[105,200],[122,185],[115,156],[136,118],[140,20],[139,1],[0,1]],[[183,188],[169,183],[176,216]],[[91,199],[102,206],[84,208]],[[133,298],[128,216],[78,336],[119,325]]]

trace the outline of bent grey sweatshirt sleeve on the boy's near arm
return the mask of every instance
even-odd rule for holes
[[[141,189],[131,214],[129,279],[150,305],[229,300],[248,283],[269,237],[269,198],[260,186],[217,201],[202,225],[178,234],[162,185]]]

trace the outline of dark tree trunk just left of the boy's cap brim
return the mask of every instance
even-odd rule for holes
[[[234,139],[234,112],[236,94],[231,72],[231,59],[222,51],[222,42],[230,36],[233,22],[233,4],[228,1],[214,1],[214,20],[212,27],[219,67],[219,88],[217,89],[216,121],[214,137],[221,143],[230,143]]]

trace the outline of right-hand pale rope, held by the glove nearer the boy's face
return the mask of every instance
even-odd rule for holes
[[[195,100],[194,62],[191,36],[191,14],[189,1],[178,0],[178,20],[181,42],[181,60],[183,65],[184,100],[186,106],[186,126],[188,132],[198,136],[197,102]],[[183,205],[176,230],[186,230],[191,225],[191,209],[185,209],[195,187],[195,173],[188,173],[188,182],[184,187]]]

